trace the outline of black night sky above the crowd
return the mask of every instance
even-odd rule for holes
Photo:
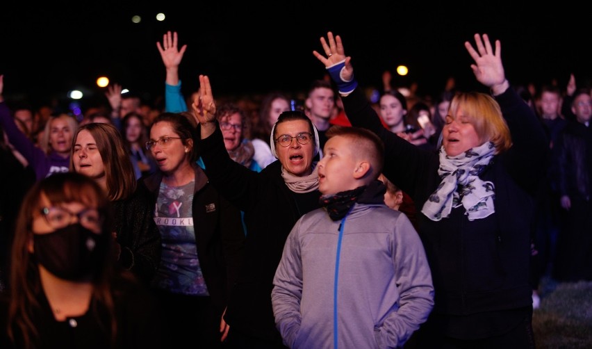
[[[94,82],[103,74],[154,99],[163,94],[165,79],[156,41],[167,30],[188,44],[180,67],[185,95],[197,90],[199,74],[211,77],[218,97],[306,91],[325,73],[311,52],[321,49],[319,38],[329,30],[343,38],[363,86],[381,88],[381,74],[390,70],[393,85],[415,81],[419,95],[435,95],[449,76],[461,90],[480,89],[463,46],[474,33],[502,41],[513,84],[554,80],[564,88],[573,72],[584,86],[592,76],[592,15],[583,3],[67,3],[13,3],[0,11],[0,74],[8,99],[42,102],[74,88],[102,97]],[[158,12],[167,15],[164,22],[154,19]],[[142,22],[131,23],[133,15]],[[396,76],[400,64],[409,67],[408,76]]]

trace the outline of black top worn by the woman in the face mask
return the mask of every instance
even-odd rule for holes
[[[144,285],[129,276],[120,275],[117,271],[110,286],[117,321],[117,336],[113,345],[110,343],[112,322],[103,302],[92,298],[85,314],[58,321],[54,318],[54,311],[45,293],[39,288],[38,291],[33,291],[38,305],[27,310],[39,332],[37,338],[31,338],[35,348],[170,348],[162,332],[163,320],[156,300]],[[22,332],[15,323],[11,324],[15,332],[15,343],[8,338],[9,304],[10,295],[0,295],[0,348],[24,348]]]

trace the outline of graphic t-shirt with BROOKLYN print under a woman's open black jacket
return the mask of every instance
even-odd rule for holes
[[[191,209],[194,186],[195,181],[184,186],[161,182],[154,222],[161,232],[163,250],[152,284],[171,293],[208,295],[195,243]]]

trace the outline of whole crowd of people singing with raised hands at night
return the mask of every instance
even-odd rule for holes
[[[535,348],[541,278],[592,280],[592,94],[464,46],[486,92],[372,100],[332,32],[254,106],[185,97],[171,31],[162,108],[47,113],[0,75],[0,346]]]

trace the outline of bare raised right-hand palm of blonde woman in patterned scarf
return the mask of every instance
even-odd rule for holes
[[[471,64],[470,68],[477,81],[488,88],[505,85],[507,81],[504,74],[504,65],[502,65],[502,44],[500,40],[495,40],[494,50],[487,34],[483,34],[483,38],[479,34],[475,34],[475,44],[477,46],[476,50],[470,42],[465,42],[468,53],[475,60],[475,63]]]

